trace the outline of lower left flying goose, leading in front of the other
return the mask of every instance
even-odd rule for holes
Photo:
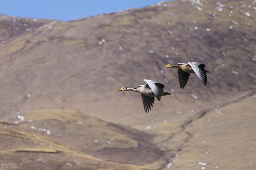
[[[128,88],[128,87],[122,87],[118,91],[134,91],[139,92],[142,97],[142,102],[144,106],[144,111],[148,113],[151,110],[151,107],[153,107],[155,97],[159,101],[161,99],[161,96],[167,96],[171,95],[168,92],[163,91],[164,85],[152,80],[146,80],[144,79],[146,84],[139,85],[138,88]]]

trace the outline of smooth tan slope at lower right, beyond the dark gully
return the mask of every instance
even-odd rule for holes
[[[169,166],[176,170],[255,170],[255,100],[256,95],[248,96],[186,121],[172,139],[160,144],[172,150],[172,155],[176,150]]]

